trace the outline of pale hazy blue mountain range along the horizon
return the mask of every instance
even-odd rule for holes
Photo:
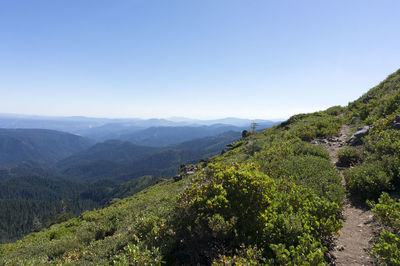
[[[45,117],[45,116],[24,116],[12,114],[0,114],[0,128],[35,128],[50,129],[69,132],[93,139],[94,141],[105,141],[109,139],[133,140],[141,139],[141,134],[157,134],[160,130],[154,129],[156,133],[151,132],[149,128],[158,127],[177,127],[177,128],[197,128],[212,126],[212,128],[229,126],[229,130],[241,131],[248,129],[252,122],[259,125],[259,129],[265,129],[278,123],[275,120],[250,120],[240,118],[223,118],[215,120],[199,120],[189,118],[170,118],[170,119],[108,119],[108,118],[89,118],[89,117]],[[236,128],[235,128],[236,127]],[[147,130],[142,133],[140,131]],[[217,130],[217,134],[221,133]],[[130,136],[132,135],[132,136]],[[198,134],[193,137],[205,137],[215,135],[214,132],[208,134]],[[189,140],[185,138],[183,141]],[[166,142],[161,146],[167,146],[178,143],[177,141]],[[151,146],[157,146],[152,144]]]

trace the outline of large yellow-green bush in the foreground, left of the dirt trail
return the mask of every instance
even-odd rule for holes
[[[324,263],[324,244],[339,230],[340,208],[310,190],[273,180],[253,166],[209,165],[175,209],[179,263],[210,264],[242,245],[271,264]]]

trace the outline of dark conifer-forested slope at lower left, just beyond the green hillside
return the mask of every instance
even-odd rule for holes
[[[102,208],[113,198],[131,196],[164,178],[141,176],[124,183],[89,183],[23,175],[0,181],[0,243]]]

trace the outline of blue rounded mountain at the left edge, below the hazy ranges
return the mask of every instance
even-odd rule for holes
[[[77,135],[44,129],[0,129],[0,166],[25,160],[54,163],[92,142]]]

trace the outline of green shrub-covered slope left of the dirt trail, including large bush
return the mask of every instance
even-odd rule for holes
[[[327,152],[302,139],[335,135],[341,122],[334,114],[318,112],[251,132],[211,164],[181,168],[182,181],[161,182],[103,210],[3,245],[2,260],[322,263],[341,225],[344,193]],[[160,156],[168,167],[179,157],[171,152],[149,156]],[[25,255],[17,255],[22,250]]]

